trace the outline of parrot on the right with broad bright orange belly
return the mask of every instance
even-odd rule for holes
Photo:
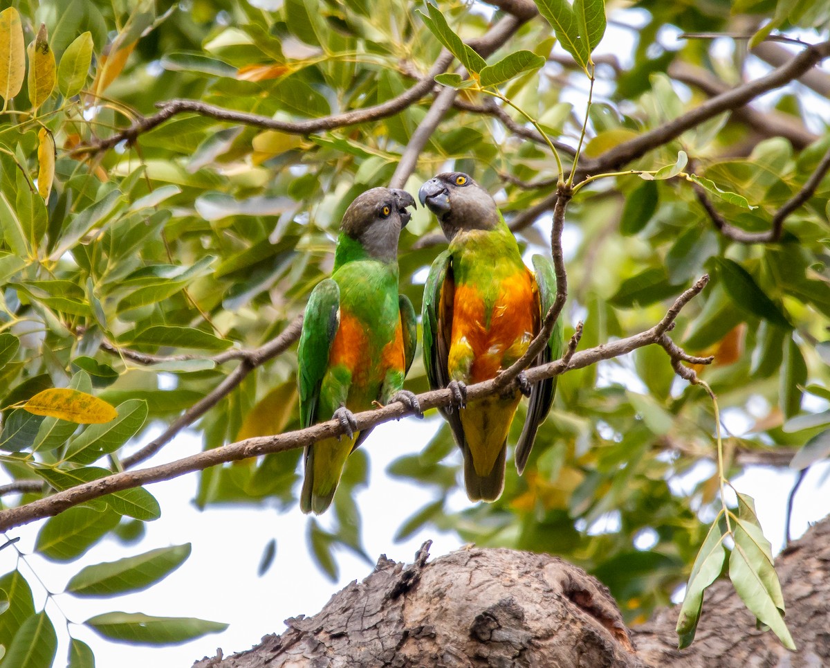
[[[495,501],[505,484],[507,435],[520,393],[492,395],[464,405],[466,385],[495,377],[522,356],[556,297],[553,264],[533,257],[535,273],[490,194],[467,174],[438,174],[418,191],[437,216],[449,248],[430,268],[423,296],[423,359],[433,389],[450,387],[458,410],[442,410],[464,454],[464,483],[471,501]],[[561,318],[535,363],[562,354]],[[525,469],[536,431],[548,415],[555,378],[532,388],[525,427],[516,444],[519,473]]]

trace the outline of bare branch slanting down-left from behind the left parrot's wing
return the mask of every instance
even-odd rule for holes
[[[182,415],[173,420],[154,440],[151,440],[147,445],[144,445],[138,452],[126,457],[121,465],[125,469],[131,469],[136,464],[140,464],[145,459],[149,459],[160,449],[167,445],[173,437],[178,434],[185,427],[192,425],[202,415],[217,405],[225,396],[236,388],[245,377],[251,373],[257,366],[261,366],[271,358],[276,357],[282,351],[285,351],[288,346],[291,346],[294,341],[300,338],[300,331],[303,326],[303,317],[297,316],[291,324],[286,327],[276,338],[268,341],[264,346],[256,348],[253,351],[246,351],[247,356],[241,358],[240,365],[237,366],[228,376],[226,376],[219,385],[214,387],[207,395],[198,400],[188,410],[185,410]],[[242,352],[242,351],[239,351]]]

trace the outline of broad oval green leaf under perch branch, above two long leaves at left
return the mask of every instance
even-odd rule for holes
[[[118,523],[118,513],[75,506],[46,520],[35,549],[47,559],[69,562],[85,553]]]

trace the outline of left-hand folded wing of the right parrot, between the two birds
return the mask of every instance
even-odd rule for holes
[[[455,279],[452,276],[452,256],[444,251],[429,268],[427,283],[423,288],[423,308],[421,324],[423,326],[423,366],[427,370],[427,380],[433,390],[447,387],[450,374],[447,371],[447,358],[450,354],[450,335],[452,333],[452,301],[455,293]],[[450,425],[458,446],[464,449],[464,428],[458,410],[439,408],[441,415]]]

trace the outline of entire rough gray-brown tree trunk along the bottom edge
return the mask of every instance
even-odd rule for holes
[[[428,548],[406,567],[380,557],[315,616],[194,668],[830,666],[830,519],[776,563],[794,653],[755,630],[730,582],[706,593],[696,641],[677,651],[675,609],[629,631],[608,589],[558,557],[462,548],[427,563]]]

